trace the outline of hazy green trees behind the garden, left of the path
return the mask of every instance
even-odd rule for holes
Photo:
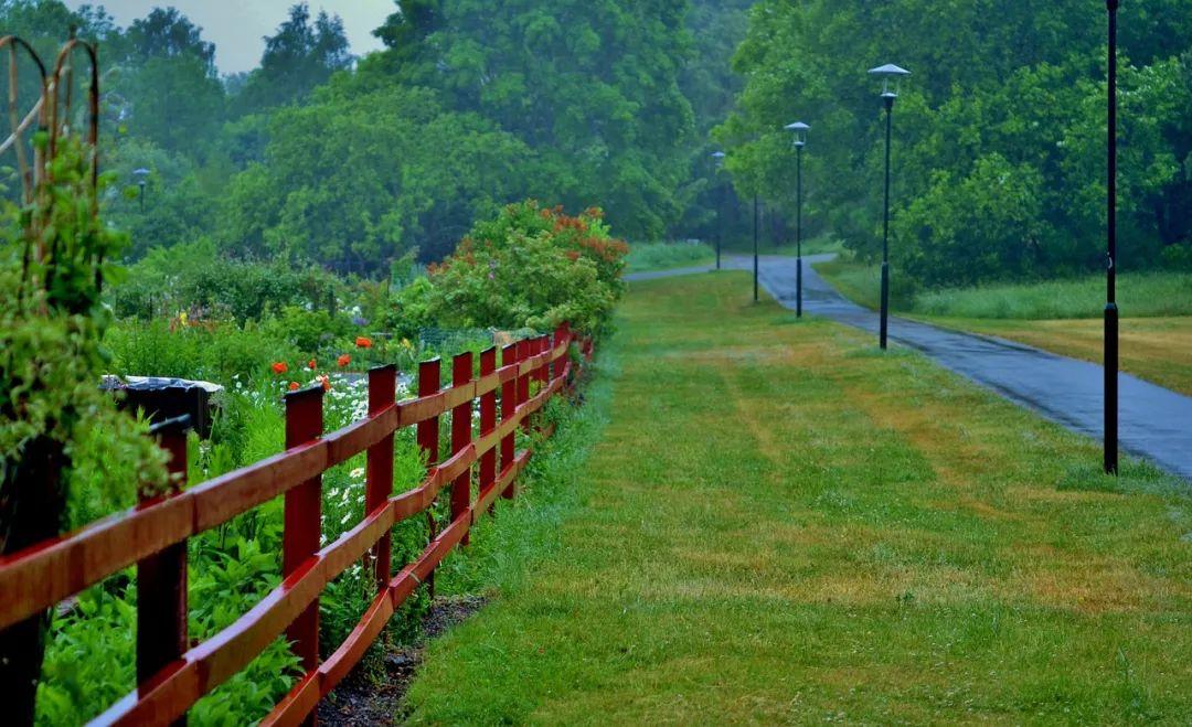
[[[708,235],[707,131],[737,91],[749,2],[403,0],[350,56],[296,5],[260,67],[221,76],[184,14],[0,0],[0,30],[52,57],[100,42],[107,218],[131,257],[206,240],[241,259],[384,275],[441,260],[476,219],[535,198],[598,205],[635,240]],[[694,32],[693,32],[694,31]],[[136,169],[149,169],[142,200]]]

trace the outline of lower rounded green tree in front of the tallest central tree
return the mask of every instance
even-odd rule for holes
[[[385,271],[415,247],[441,257],[472,219],[520,193],[510,172],[526,154],[430,92],[343,76],[273,117],[267,163],[235,178],[224,200],[222,246],[341,272]]]

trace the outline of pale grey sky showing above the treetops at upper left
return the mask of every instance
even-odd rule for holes
[[[272,36],[298,0],[67,0],[72,8],[101,5],[117,25],[128,27],[154,7],[173,6],[203,27],[203,39],[216,44],[219,73],[250,70],[261,61],[265,36]],[[343,18],[352,52],[362,56],[381,48],[372,31],[385,21],[395,0],[309,0],[311,15],[319,10]]]

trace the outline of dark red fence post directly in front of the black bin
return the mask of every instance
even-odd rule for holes
[[[168,455],[167,497],[186,489],[186,433],[190,428],[191,417],[181,416],[151,429]],[[187,616],[186,540],[182,540],[137,563],[138,685],[186,653]],[[186,725],[186,716],[173,725]]]

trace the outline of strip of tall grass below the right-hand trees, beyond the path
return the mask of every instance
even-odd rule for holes
[[[1123,316],[1192,315],[1192,273],[1130,273],[1118,278]],[[1105,309],[1105,278],[1097,275],[1023,285],[989,285],[919,293],[915,313],[952,318],[1043,321],[1097,318]]]

